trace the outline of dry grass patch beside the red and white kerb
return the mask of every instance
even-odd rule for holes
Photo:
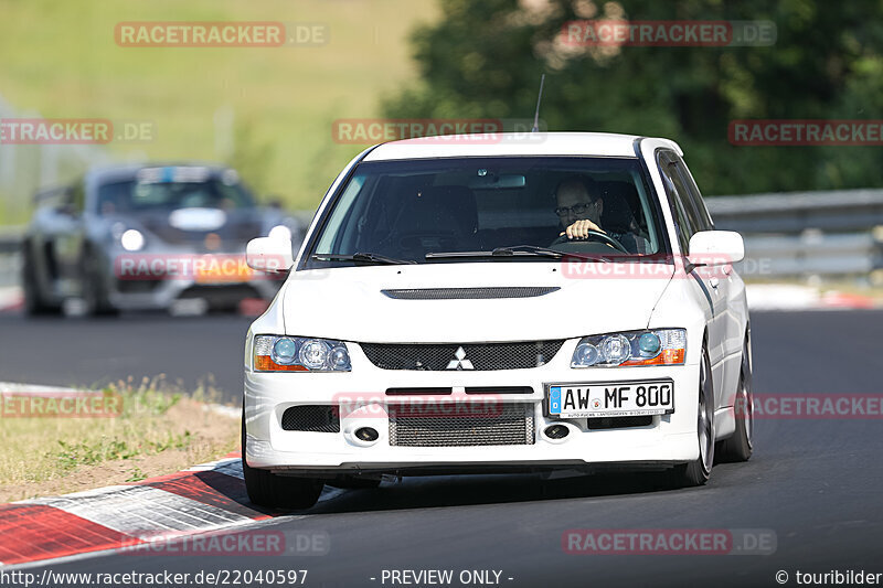
[[[238,446],[238,419],[205,409],[211,387],[182,394],[158,376],[103,393],[121,408],[109,417],[0,415],[0,445],[15,448],[0,451],[0,503],[171,473]],[[114,463],[125,472],[106,470]]]

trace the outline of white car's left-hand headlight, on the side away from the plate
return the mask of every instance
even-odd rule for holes
[[[342,341],[305,336],[257,335],[256,372],[349,372],[350,352]]]

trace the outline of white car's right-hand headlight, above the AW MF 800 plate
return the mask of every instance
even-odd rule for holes
[[[679,365],[687,355],[685,329],[652,329],[584,336],[571,367]]]

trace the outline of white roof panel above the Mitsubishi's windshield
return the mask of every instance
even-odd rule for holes
[[[448,135],[382,143],[364,161],[481,156],[635,157],[635,139],[639,138],[610,132]],[[681,152],[674,141],[661,141]]]

